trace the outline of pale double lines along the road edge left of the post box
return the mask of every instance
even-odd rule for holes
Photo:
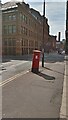
[[[29,71],[21,72],[21,73],[19,73],[19,74],[14,75],[14,76],[11,77],[11,78],[8,78],[8,79],[4,80],[3,82],[0,82],[0,87],[4,86],[5,84],[7,84],[7,83],[9,83],[9,82],[11,82],[11,81],[13,81],[14,79],[18,78],[18,77],[21,76],[21,75],[25,75],[25,74],[28,73],[28,72],[29,72]]]

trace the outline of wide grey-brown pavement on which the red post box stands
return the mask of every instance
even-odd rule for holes
[[[60,118],[64,62],[45,63],[2,86],[3,118]],[[57,120],[56,119],[56,120]]]

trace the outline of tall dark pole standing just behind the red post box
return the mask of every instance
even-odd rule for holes
[[[45,0],[44,0],[44,4],[43,4],[42,67],[44,67],[44,28],[45,28]]]

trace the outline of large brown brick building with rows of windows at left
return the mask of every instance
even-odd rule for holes
[[[42,47],[43,16],[24,2],[7,2],[2,5],[2,54],[30,54]],[[49,25],[45,18],[45,41]]]

